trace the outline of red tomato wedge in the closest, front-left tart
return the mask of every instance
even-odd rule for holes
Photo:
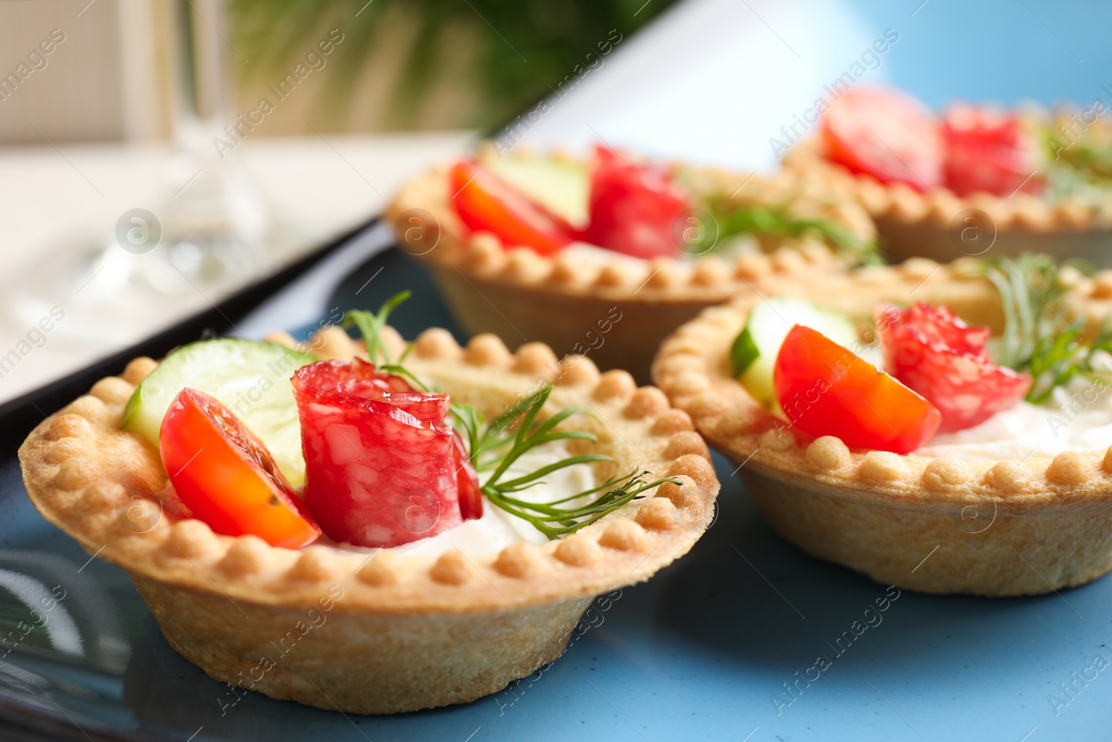
[[[216,398],[186,387],[159,431],[162,466],[181,504],[215,533],[299,548],[320,527],[262,442]]]

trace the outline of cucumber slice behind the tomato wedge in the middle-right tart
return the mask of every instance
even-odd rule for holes
[[[802,299],[775,297],[753,307],[734,345],[731,360],[738,377],[753,397],[772,406],[776,400],[772,373],[784,338],[795,325],[816,329],[838,345],[860,349],[857,328],[848,315],[818,307]]]

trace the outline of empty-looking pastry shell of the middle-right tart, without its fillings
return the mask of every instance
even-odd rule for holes
[[[1072,299],[1091,318],[1112,310],[1078,279]],[[999,333],[986,280],[925,259],[866,267],[785,291],[853,315],[880,301],[949,304]],[[975,463],[850,449],[773,417],[731,373],[728,353],[751,297],[712,307],[661,347],[653,374],[696,429],[727,455],[773,527],[803,551],[884,584],[929,593],[1027,595],[1080,585],[1112,570],[1112,451]]]

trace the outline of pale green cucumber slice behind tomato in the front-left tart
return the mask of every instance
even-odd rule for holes
[[[289,378],[315,357],[276,343],[219,338],[183,345],[143,379],[123,410],[123,428],[158,447],[158,432],[182,387],[222,402],[259,436],[289,483],[305,483],[301,425]]]

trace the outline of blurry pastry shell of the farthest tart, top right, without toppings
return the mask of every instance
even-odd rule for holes
[[[1022,191],[1010,197],[960,197],[936,186],[920,192],[830,162],[815,139],[785,155],[784,167],[808,172],[825,181],[832,192],[860,202],[876,225],[885,257],[893,263],[912,257],[949,263],[991,250],[1010,256],[1044,253],[1060,261],[1083,258],[1101,268],[1112,267],[1112,200],[1098,208],[1074,199],[1050,204]]]

